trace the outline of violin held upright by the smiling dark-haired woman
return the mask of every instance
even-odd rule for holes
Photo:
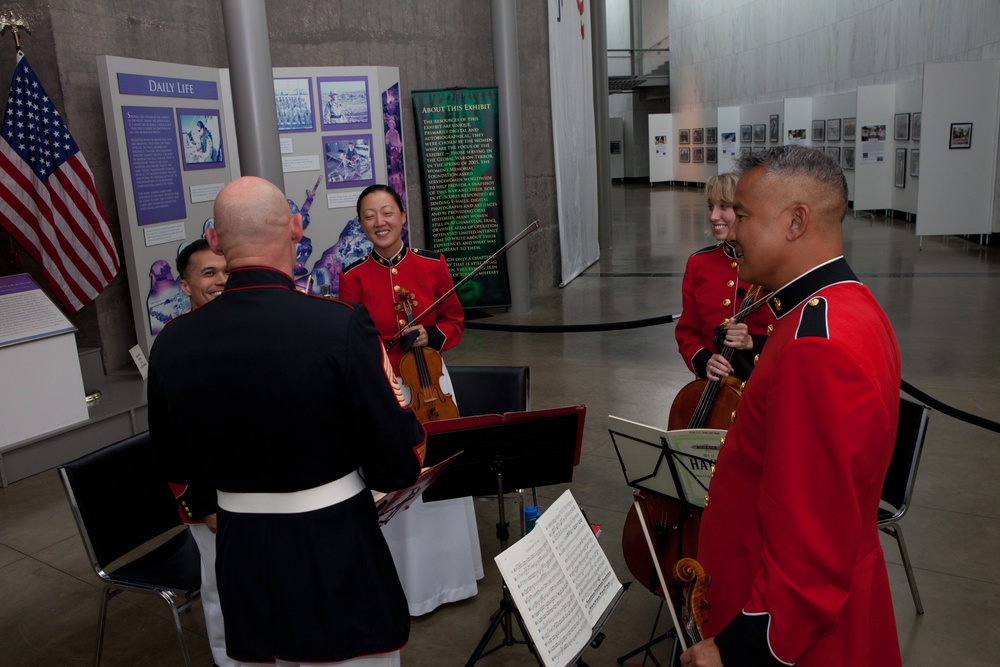
[[[414,295],[400,288],[396,312],[402,312],[406,321],[413,324]],[[399,360],[399,374],[403,384],[410,388],[410,409],[421,424],[438,419],[455,419],[458,406],[455,398],[441,389],[444,362],[441,354],[432,348],[414,346]]]

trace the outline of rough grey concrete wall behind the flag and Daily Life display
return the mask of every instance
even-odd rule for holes
[[[27,18],[22,45],[32,67],[94,172],[97,193],[121,248],[121,229],[104,134],[96,57],[115,55],[206,67],[228,67],[221,3],[209,0],[24,0],[5,6]],[[414,243],[423,244],[417,149],[410,92],[449,86],[494,85],[490,4],[467,0],[419,3],[268,2],[276,67],[388,65],[400,68],[403,133]],[[542,222],[529,241],[531,285],[557,284],[558,221],[549,106],[548,18],[545,3],[520,0],[518,10],[528,219]],[[4,40],[10,39],[4,35]],[[4,85],[11,58],[0,59]],[[0,230],[0,274],[41,271],[18,250],[22,266],[7,261],[10,239]],[[136,337],[124,270],[80,313],[71,316],[81,347],[100,346],[105,368],[129,366]]]

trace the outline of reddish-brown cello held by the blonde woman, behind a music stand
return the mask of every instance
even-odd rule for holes
[[[716,332],[724,331],[730,321],[742,322],[750,313],[766,303],[766,291],[759,286],[747,290],[742,307],[732,320],[724,321]],[[734,348],[723,347],[721,354],[732,358]],[[682,428],[726,429],[732,422],[743,389],[743,382],[733,377],[722,380],[699,378],[685,385],[670,407],[668,430]],[[657,567],[670,571],[670,563],[684,559],[698,551],[698,527],[701,508],[651,491],[635,491],[635,500],[625,517],[622,529],[622,552],[632,576],[661,598],[663,586],[657,576]],[[637,506],[641,505],[650,526],[657,561],[654,563],[641,526]],[[680,591],[671,595],[678,606],[683,603]]]

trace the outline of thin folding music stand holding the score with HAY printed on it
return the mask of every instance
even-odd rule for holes
[[[671,433],[614,416],[609,416],[609,419],[611,426],[608,428],[608,433],[611,435],[611,442],[618,455],[626,484],[634,489],[650,491],[681,503],[682,511],[679,512],[677,523],[668,527],[671,532],[677,532],[677,560],[679,560],[684,547],[682,524],[693,519],[695,512],[705,506],[704,497],[708,491],[711,467],[721,447],[699,444],[675,449],[669,442]],[[701,431],[718,433],[716,429],[701,429]],[[706,455],[710,455],[711,458]],[[660,532],[658,530],[657,534]],[[652,584],[653,582],[647,584],[647,588],[652,590],[654,587]],[[663,594],[669,593],[663,591]],[[663,604],[664,601],[661,600],[656,618],[653,620],[649,641],[620,656],[619,665],[624,665],[625,661],[634,655],[645,653],[657,667],[661,667],[650,649],[666,639],[673,640],[670,664],[676,663],[677,632],[674,628],[670,628],[663,634],[656,635]]]

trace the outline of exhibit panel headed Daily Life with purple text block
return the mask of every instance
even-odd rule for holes
[[[204,233],[215,195],[239,175],[222,71],[98,58],[136,336],[153,338],[190,309],[179,248]]]

